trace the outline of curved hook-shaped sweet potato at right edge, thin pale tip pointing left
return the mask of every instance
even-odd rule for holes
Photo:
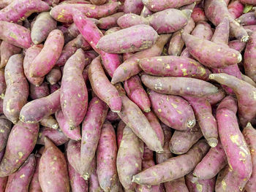
[[[210,74],[209,78],[232,88],[238,99],[238,116],[242,126],[246,126],[256,115],[256,88],[248,82],[228,74]]]

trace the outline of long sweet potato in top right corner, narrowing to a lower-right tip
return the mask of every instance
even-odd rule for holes
[[[237,39],[242,42],[247,42],[249,36],[246,30],[234,20],[230,12],[228,12],[227,4],[222,0],[207,0],[204,2],[206,18],[214,23],[215,26],[219,25],[221,20],[225,17],[230,21],[230,32],[235,35]]]

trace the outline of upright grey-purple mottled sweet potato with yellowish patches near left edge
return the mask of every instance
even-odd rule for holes
[[[23,55],[12,55],[4,69],[7,89],[4,96],[4,115],[12,121],[18,122],[20,110],[29,96],[29,84],[23,73]]]

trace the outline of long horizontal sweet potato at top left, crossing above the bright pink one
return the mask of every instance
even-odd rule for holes
[[[50,10],[50,15],[61,23],[72,23],[72,10],[78,9],[88,18],[105,18],[117,12],[118,2],[103,5],[94,4],[59,4]]]

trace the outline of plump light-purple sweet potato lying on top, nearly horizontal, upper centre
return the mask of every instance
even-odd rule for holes
[[[158,37],[154,28],[141,24],[102,37],[97,43],[97,48],[107,53],[141,51],[152,47]]]

